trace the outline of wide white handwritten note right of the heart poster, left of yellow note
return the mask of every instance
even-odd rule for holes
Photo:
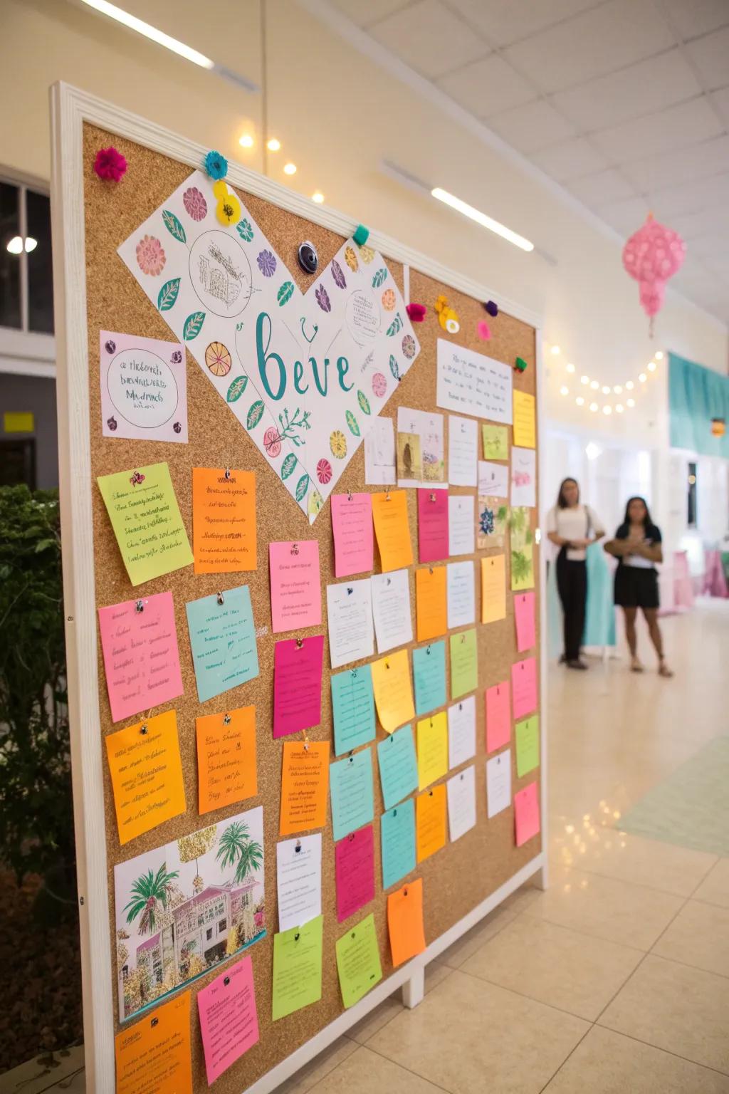
[[[438,338],[435,401],[445,410],[509,424],[512,369],[483,353]]]

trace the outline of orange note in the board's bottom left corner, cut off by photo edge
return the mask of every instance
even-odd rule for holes
[[[192,1094],[190,992],[125,1026],[114,1051],[116,1094]]]

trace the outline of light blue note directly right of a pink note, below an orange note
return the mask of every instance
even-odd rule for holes
[[[258,650],[254,612],[248,585],[190,601],[187,626],[190,632],[198,699],[204,702],[258,676]]]

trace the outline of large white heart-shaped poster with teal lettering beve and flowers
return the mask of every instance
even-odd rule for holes
[[[348,240],[303,294],[213,185],[195,172],[118,253],[313,524],[418,339],[376,251]]]

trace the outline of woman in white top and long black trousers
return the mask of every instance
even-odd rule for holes
[[[564,654],[569,668],[587,668],[579,656],[585,630],[587,567],[585,557],[590,544],[604,535],[600,519],[579,501],[579,487],[573,478],[563,480],[557,503],[546,517],[548,538],[560,548],[556,560],[557,592],[564,612]]]

